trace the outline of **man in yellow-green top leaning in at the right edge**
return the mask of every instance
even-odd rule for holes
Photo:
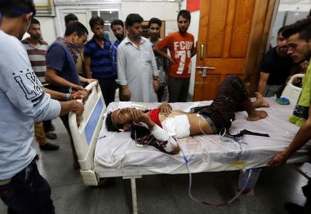
[[[292,57],[295,63],[300,64],[304,60],[310,61],[311,57],[311,19],[303,19],[296,21],[295,24],[289,26],[284,30],[283,37],[288,40],[288,54]],[[294,140],[288,148],[283,152],[279,152],[267,163],[267,166],[281,166],[286,163],[289,157],[299,150],[305,143],[311,139],[311,64],[309,63],[307,72],[303,77],[303,89],[301,96],[294,110],[294,116],[303,118],[305,115],[306,120],[301,125]],[[297,109],[300,109],[298,111]],[[299,114],[299,112],[301,112]],[[291,122],[291,121],[290,121]],[[311,180],[309,179],[308,185],[303,186],[303,194],[307,197],[305,207],[296,204],[288,203],[285,208],[290,213],[311,213]]]

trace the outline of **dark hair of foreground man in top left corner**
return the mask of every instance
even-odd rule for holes
[[[0,12],[4,17],[20,17],[32,12],[32,17],[36,15],[35,3],[33,0],[1,0]]]

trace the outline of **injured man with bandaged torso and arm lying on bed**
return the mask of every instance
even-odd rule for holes
[[[168,103],[145,111],[117,109],[106,115],[106,127],[110,132],[131,130],[131,138],[137,143],[178,154],[180,148],[176,139],[195,134],[218,134],[223,128],[228,130],[237,111],[246,111],[247,121],[258,121],[265,118],[267,112],[255,108],[268,106],[260,94],[251,102],[243,81],[236,75],[229,75],[220,84],[216,98],[209,106],[192,108],[190,113],[173,110]]]

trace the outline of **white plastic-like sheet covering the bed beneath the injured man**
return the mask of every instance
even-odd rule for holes
[[[287,147],[299,130],[299,127],[287,121],[292,114],[291,105],[279,105],[274,98],[267,98],[269,108],[262,108],[267,118],[260,121],[246,121],[246,112],[237,112],[236,121],[232,123],[231,133],[247,129],[252,132],[269,134],[270,137],[245,135],[241,143],[220,141],[218,135],[197,135],[178,139],[185,156],[189,160],[191,172],[239,170],[265,166],[276,152]],[[211,101],[173,103],[173,109],[185,112],[191,107],[209,105]],[[118,107],[158,107],[159,103],[112,102],[107,111]],[[296,152],[289,163],[303,162],[310,159],[311,143],[307,143]],[[95,148],[94,166],[97,172],[117,172],[123,168],[138,166],[147,174],[187,173],[182,154],[169,155],[153,146],[137,147],[130,137],[130,132],[108,132],[102,126]]]

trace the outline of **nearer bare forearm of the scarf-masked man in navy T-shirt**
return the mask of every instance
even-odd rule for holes
[[[69,82],[64,78],[61,78],[59,75],[57,75],[58,72],[59,71],[56,71],[55,69],[46,68],[46,82],[50,84],[55,84],[58,87],[72,88],[75,91],[84,90],[84,87],[73,84],[72,82]]]

